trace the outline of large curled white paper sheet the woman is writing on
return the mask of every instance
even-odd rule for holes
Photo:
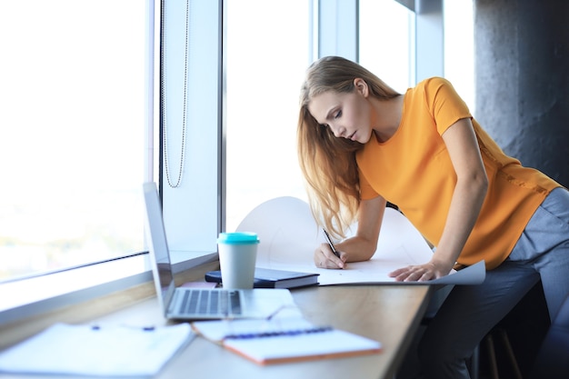
[[[258,205],[237,227],[254,231],[260,244],[257,266],[320,274],[320,285],[331,284],[480,284],[484,261],[429,282],[395,282],[388,274],[410,264],[428,262],[433,251],[403,214],[386,208],[377,250],[369,261],[346,264],[342,270],[314,265],[313,254],[324,235],[314,222],[308,204],[294,197],[278,197]],[[355,230],[355,227],[354,227]]]

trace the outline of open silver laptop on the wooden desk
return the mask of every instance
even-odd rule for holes
[[[287,289],[176,288],[158,190],[152,182],[145,183],[143,188],[146,241],[150,249],[156,295],[164,310],[165,318],[181,320],[267,318],[284,307],[294,306],[293,296]]]

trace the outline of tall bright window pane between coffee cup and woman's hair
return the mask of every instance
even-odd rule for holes
[[[266,200],[305,200],[296,123],[310,64],[309,1],[234,0],[227,6],[226,230],[234,231]]]

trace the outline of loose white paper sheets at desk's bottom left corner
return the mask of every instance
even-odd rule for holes
[[[0,373],[153,376],[194,337],[189,324],[54,324],[0,353]]]

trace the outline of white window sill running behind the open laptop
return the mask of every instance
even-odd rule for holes
[[[176,282],[203,280],[216,253],[173,252]],[[56,322],[84,323],[155,295],[148,255],[0,284],[0,349]]]

